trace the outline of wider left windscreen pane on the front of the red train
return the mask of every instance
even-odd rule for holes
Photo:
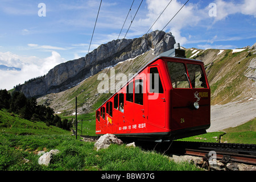
[[[190,88],[187,71],[183,63],[167,62],[172,87]]]

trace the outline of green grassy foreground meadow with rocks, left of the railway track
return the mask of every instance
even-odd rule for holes
[[[94,114],[84,115],[82,118],[86,117],[91,118],[90,121]],[[89,121],[86,120],[84,123],[92,125],[86,125],[86,128],[88,131],[95,130],[94,122]],[[53,156],[49,166],[39,165],[38,151],[48,152],[52,149],[60,150],[59,154]],[[143,151],[140,147],[126,147],[125,144],[120,146],[112,144],[108,149],[97,151],[94,149],[94,142],[75,139],[70,131],[46,126],[43,122],[21,119],[16,114],[0,110],[0,171],[102,170],[200,171],[201,169],[190,163],[175,163],[162,154]]]

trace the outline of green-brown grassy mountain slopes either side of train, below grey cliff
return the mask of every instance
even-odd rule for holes
[[[187,58],[203,60],[211,87],[211,104],[226,104],[234,101],[256,99],[256,49],[247,48],[233,52],[232,49],[184,48]],[[194,52],[193,52],[194,51]],[[193,52],[193,53],[192,53]],[[195,53],[198,52],[196,55]],[[195,56],[194,56],[195,55]],[[154,59],[151,49],[134,59],[116,64],[115,75],[137,73],[148,61]],[[110,78],[110,67],[102,69],[96,75],[82,81],[80,85],[59,93],[51,93],[38,98],[39,104],[54,108],[56,113],[71,115],[75,112],[75,97],[84,104],[78,107],[78,113],[89,113],[97,109],[112,93],[99,94],[97,77],[106,73]],[[115,84],[118,81],[115,81]]]

